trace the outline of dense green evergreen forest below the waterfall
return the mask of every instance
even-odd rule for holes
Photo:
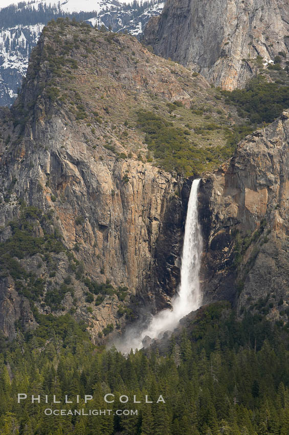
[[[49,324],[51,322],[51,324]],[[94,346],[85,325],[69,315],[18,332],[0,354],[1,435],[287,435],[289,433],[288,325],[258,314],[241,321],[227,302],[199,310],[166,354],[123,356]],[[104,395],[115,394],[106,404]],[[30,400],[17,404],[17,394]],[[31,404],[31,395],[93,400],[85,405]],[[121,404],[119,396],[129,401]],[[134,404],[134,395],[142,403]],[[145,395],[153,402],[145,403]],[[166,403],[155,403],[162,395]],[[51,399],[49,399],[51,402]],[[49,402],[49,403],[50,403]],[[46,416],[53,409],[112,409],[110,416]],[[138,409],[138,416],[115,411]]]

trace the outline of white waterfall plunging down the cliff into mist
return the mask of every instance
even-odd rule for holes
[[[182,254],[181,284],[179,293],[172,299],[172,310],[163,310],[152,316],[148,328],[137,337],[134,336],[134,330],[127,331],[125,340],[122,343],[116,343],[120,351],[128,352],[131,348],[141,349],[143,347],[142,341],[146,336],[152,339],[161,338],[165,331],[172,331],[181,318],[201,306],[199,269],[203,241],[197,212],[199,181],[194,180],[191,187]]]

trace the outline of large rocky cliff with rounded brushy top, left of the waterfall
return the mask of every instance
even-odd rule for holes
[[[199,126],[191,106],[204,103],[207,119],[229,126],[204,78],[136,38],[63,19],[44,29],[0,120],[5,336],[18,319],[34,328],[36,312],[70,312],[99,340],[133,319],[138,301],[154,311],[170,304],[189,189],[150,154],[138,111],[159,113],[201,149],[209,137],[184,124]],[[223,130],[214,137],[225,143]]]

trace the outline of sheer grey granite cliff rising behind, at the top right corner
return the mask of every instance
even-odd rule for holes
[[[155,53],[203,74],[224,89],[242,88],[254,75],[250,59],[273,62],[289,48],[284,0],[168,0],[144,40]]]

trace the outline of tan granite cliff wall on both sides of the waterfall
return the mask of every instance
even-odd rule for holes
[[[134,37],[63,19],[44,29],[16,102],[0,113],[0,328],[9,339],[41,315],[70,313],[103,342],[142,307],[170,306],[192,177],[150,154],[143,111],[189,137],[208,168],[238,122],[206,79]],[[246,138],[203,178],[206,302],[227,298],[241,313],[271,292],[268,314],[284,311],[288,123]]]

